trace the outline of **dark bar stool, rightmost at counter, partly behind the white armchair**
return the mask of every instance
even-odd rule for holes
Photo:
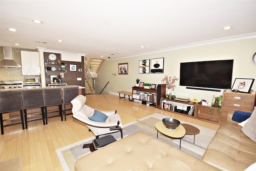
[[[72,108],[70,109],[66,109],[66,105],[71,104],[71,100],[74,99],[76,96],[78,96],[78,85],[66,85],[62,87],[62,91],[63,91],[63,97],[62,97],[62,103],[64,105],[64,111],[62,110],[62,112],[64,113],[64,117],[65,117],[65,121],[66,121],[66,111],[72,110]],[[68,114],[72,114],[72,113],[68,113]]]

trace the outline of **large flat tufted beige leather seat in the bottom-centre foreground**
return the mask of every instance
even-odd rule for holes
[[[136,132],[75,163],[75,171],[219,170],[147,133]]]

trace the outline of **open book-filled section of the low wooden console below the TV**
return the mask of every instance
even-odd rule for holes
[[[186,101],[178,101],[174,99],[163,98],[161,103],[162,103],[161,109],[163,110],[196,118],[197,105],[195,103],[192,103],[192,101],[186,102]],[[177,105],[176,103],[181,103],[182,107],[180,107],[180,105]],[[185,109],[184,109],[184,105],[186,105]],[[182,108],[182,109],[179,109],[179,108]]]

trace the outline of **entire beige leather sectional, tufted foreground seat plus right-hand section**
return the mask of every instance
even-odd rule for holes
[[[243,171],[256,162],[256,142],[230,117],[232,113],[220,125],[202,160],[139,131],[78,159],[75,170]]]

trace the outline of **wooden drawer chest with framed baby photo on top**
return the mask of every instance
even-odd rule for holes
[[[222,109],[252,112],[254,110],[255,94],[223,91],[222,102]]]

